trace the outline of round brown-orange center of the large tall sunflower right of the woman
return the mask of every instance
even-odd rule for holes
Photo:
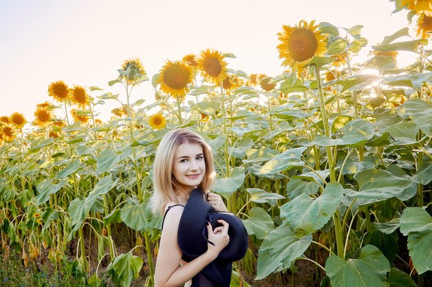
[[[294,61],[302,62],[317,52],[318,42],[315,34],[306,28],[297,28],[288,39],[288,51]]]

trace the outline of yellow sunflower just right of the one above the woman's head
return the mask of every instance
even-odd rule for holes
[[[206,81],[220,85],[226,78],[226,65],[221,52],[207,49],[201,52],[197,69],[201,71]]]

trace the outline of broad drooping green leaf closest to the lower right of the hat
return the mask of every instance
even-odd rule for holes
[[[262,242],[258,251],[257,277],[263,279],[282,270],[290,268],[295,259],[302,256],[311,245],[312,235],[297,237],[286,226],[279,226]]]

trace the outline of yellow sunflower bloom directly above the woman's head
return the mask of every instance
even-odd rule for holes
[[[161,91],[170,96],[183,98],[193,82],[193,67],[180,61],[167,61],[162,67],[158,83]]]

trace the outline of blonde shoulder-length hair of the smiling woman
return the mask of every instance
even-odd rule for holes
[[[210,191],[215,180],[215,166],[213,153],[204,139],[188,129],[173,129],[168,131],[157,147],[155,162],[153,163],[153,196],[151,200],[153,213],[164,213],[167,202],[177,202],[175,190],[180,184],[173,176],[173,162],[175,151],[179,145],[185,143],[202,147],[206,162],[206,174],[199,184],[203,191]]]

